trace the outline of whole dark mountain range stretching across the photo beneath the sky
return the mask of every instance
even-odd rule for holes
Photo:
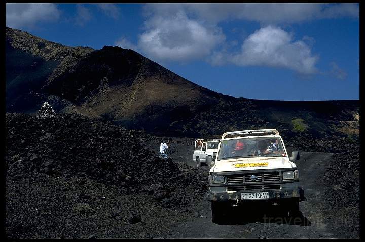
[[[201,87],[132,51],[67,47],[6,28],[6,109],[34,113],[48,101],[168,136],[277,128],[284,137],[356,138],[359,101],[266,101]],[[295,140],[295,139],[293,139]]]

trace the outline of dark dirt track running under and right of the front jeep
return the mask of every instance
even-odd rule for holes
[[[301,219],[290,220],[274,209],[252,208],[250,212],[237,209],[237,216],[228,225],[211,222],[210,202],[203,199],[195,208],[196,217],[182,223],[166,238],[347,238],[356,237],[338,229],[341,218],[331,217],[326,206],[325,190],[329,184],[318,179],[325,171],[325,160],[333,154],[300,152],[296,162],[307,201],[300,203]],[[189,161],[190,165],[192,162]],[[206,169],[208,169],[206,167]],[[336,226],[334,225],[336,221]],[[341,226],[340,226],[341,227]]]

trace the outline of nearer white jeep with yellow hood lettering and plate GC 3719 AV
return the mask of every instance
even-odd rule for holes
[[[290,217],[298,216],[305,200],[293,163],[298,159],[298,151],[288,157],[276,129],[224,133],[208,176],[212,221],[222,222],[232,206],[248,203],[281,205]]]

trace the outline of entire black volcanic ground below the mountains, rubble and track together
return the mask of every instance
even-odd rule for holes
[[[285,231],[297,225],[263,232],[258,221],[245,228],[212,224],[205,198],[209,167],[197,168],[191,158],[196,138],[170,138],[166,160],[158,156],[161,139],[75,114],[40,119],[7,113],[6,236],[204,237],[191,226],[208,226],[214,232],[205,237],[232,237],[235,231],[243,231],[233,236],[242,238],[358,237],[358,144],[343,144],[339,154],[315,153],[314,159],[304,152],[298,165],[310,189],[305,187],[309,200],[301,202],[301,211],[312,222],[318,214],[325,217],[332,235],[328,228],[295,235]],[[306,150],[309,141],[298,139],[287,147],[289,154],[298,146]]]

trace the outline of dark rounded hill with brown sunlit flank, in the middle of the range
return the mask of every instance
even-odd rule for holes
[[[115,120],[149,112],[151,105],[192,107],[217,103],[219,96],[132,50],[106,46],[86,55],[77,67],[51,76],[42,91]]]

